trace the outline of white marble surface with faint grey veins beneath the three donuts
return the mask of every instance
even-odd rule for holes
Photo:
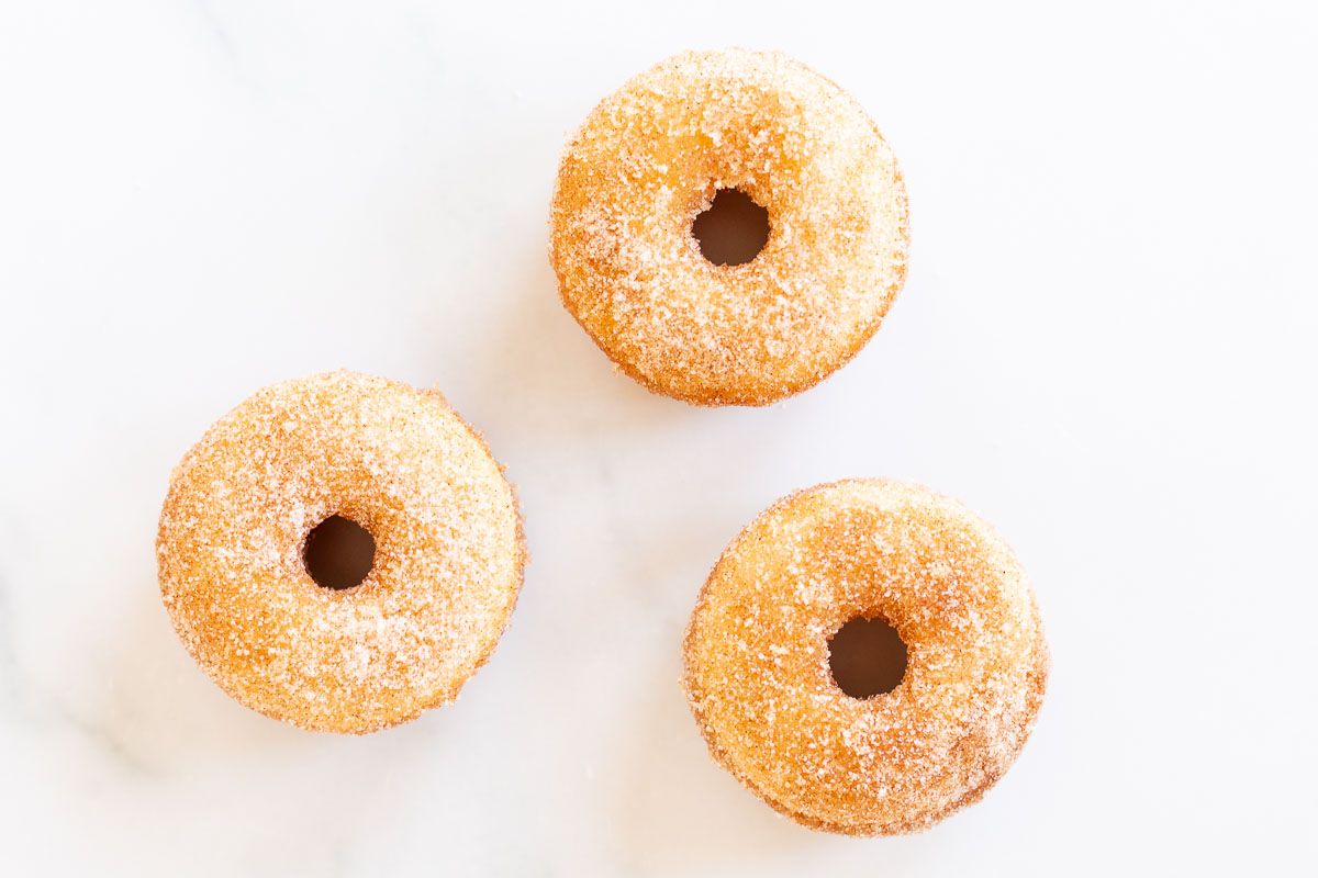
[[[5,0],[0,871],[1313,874],[1313,4]],[[909,282],[828,383],[697,409],[558,304],[564,138],[687,47],[783,49],[879,122]],[[227,699],[156,584],[170,467],[264,384],[436,384],[532,553],[452,707],[365,738]],[[1054,667],[978,806],[776,817],[679,642],[775,498],[924,482],[1032,573]]]

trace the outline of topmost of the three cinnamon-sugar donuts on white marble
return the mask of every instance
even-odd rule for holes
[[[729,191],[767,213],[749,262],[692,233]],[[896,159],[846,92],[778,53],[688,51],[606,97],[568,142],[551,207],[563,304],[645,387],[764,405],[865,346],[905,279]]]

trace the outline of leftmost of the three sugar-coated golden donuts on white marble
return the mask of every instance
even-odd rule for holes
[[[374,541],[360,584],[308,571],[331,519]],[[156,553],[174,628],[220,688],[348,733],[456,698],[526,561],[513,488],[444,398],[348,371],[266,387],[211,426],[170,478]]]

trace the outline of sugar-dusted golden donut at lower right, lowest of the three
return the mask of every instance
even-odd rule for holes
[[[900,683],[847,695],[830,640],[896,629]],[[1044,698],[1048,646],[1011,549],[963,505],[880,479],[822,484],[724,552],[684,641],[685,691],[714,761],[797,823],[925,829],[1011,766]]]

